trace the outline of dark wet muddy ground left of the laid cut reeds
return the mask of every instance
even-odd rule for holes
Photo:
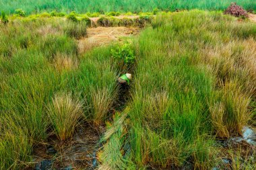
[[[94,169],[96,151],[103,129],[96,130],[90,124],[79,126],[68,142],[49,136],[48,142],[34,148],[32,166],[29,169]]]

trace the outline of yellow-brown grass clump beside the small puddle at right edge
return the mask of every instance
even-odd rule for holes
[[[234,134],[242,134],[243,126],[251,120],[251,97],[245,95],[236,82],[230,82],[226,83],[212,99],[210,112],[216,135],[228,138]]]

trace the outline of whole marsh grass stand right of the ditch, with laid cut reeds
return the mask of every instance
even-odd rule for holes
[[[255,45],[254,23],[222,13],[158,15],[135,43],[130,110],[107,131],[100,168],[217,166],[214,138],[241,134],[255,112]]]

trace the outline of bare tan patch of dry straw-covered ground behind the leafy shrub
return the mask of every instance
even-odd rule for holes
[[[78,50],[84,53],[97,46],[104,46],[114,41],[121,41],[123,37],[137,35],[139,28],[126,27],[97,27],[88,28],[87,37],[78,40]]]

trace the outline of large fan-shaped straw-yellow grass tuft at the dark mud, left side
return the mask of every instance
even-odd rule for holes
[[[71,94],[55,95],[49,105],[49,118],[53,131],[61,140],[71,138],[78,121],[83,116],[82,103]]]

